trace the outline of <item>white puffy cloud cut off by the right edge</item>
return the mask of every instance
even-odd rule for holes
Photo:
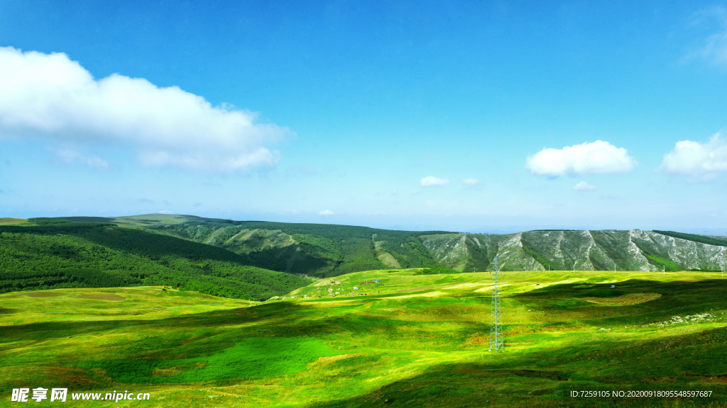
[[[727,141],[715,134],[706,143],[676,142],[674,149],[664,155],[661,170],[684,176],[716,176],[727,171]]]

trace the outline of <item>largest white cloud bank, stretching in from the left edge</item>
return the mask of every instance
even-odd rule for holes
[[[278,154],[266,144],[292,134],[256,123],[254,113],[213,107],[177,86],[159,88],[119,74],[97,80],[63,53],[0,47],[0,95],[0,137],[132,147],[146,166],[270,167]]]

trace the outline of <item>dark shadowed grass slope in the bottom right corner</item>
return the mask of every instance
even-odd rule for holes
[[[601,341],[533,354],[490,354],[439,364],[348,399],[337,407],[723,407],[727,328],[656,340]],[[710,398],[577,398],[572,391],[712,391]]]

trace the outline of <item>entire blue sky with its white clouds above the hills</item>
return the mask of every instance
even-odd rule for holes
[[[724,1],[0,0],[0,216],[727,234]]]

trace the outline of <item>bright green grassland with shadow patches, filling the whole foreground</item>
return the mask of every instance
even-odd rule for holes
[[[356,272],[264,303],[168,287],[0,294],[0,406],[18,387],[151,396],[68,407],[727,404],[720,273],[504,272],[494,353],[491,274],[442,272]],[[568,396],[585,390],[712,396]]]

